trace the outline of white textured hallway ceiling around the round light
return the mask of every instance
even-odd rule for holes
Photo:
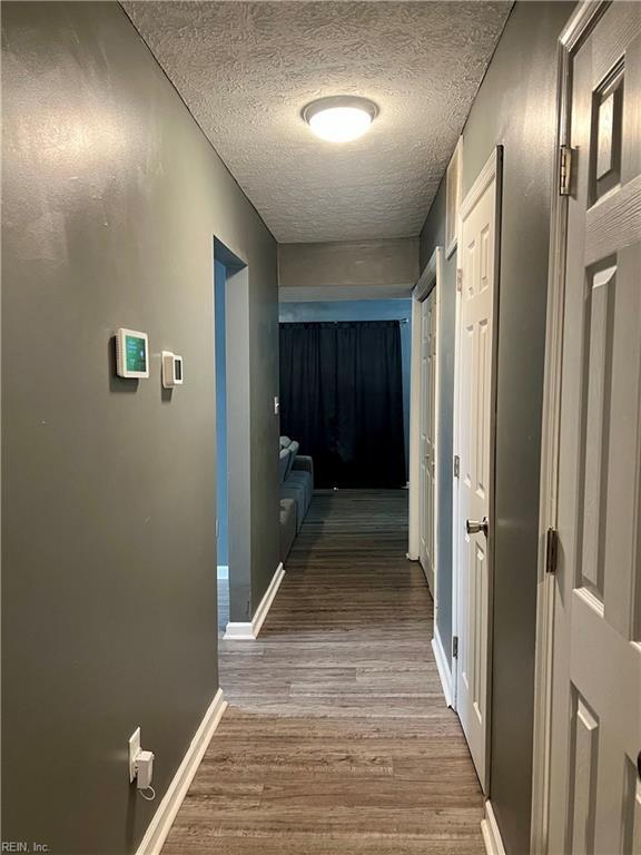
[[[279,242],[418,234],[511,3],[125,2]],[[344,145],[302,108],[363,95]]]

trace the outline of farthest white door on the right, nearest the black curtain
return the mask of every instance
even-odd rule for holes
[[[436,288],[421,303],[420,558],[434,594],[436,475]]]

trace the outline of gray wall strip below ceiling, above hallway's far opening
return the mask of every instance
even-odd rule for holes
[[[417,278],[417,237],[278,245],[280,299],[407,297]]]

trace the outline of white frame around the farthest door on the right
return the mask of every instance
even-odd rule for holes
[[[421,396],[424,384],[421,377],[421,304],[432,291],[436,289],[436,387],[435,387],[435,444],[436,460],[434,472],[434,622],[436,622],[438,590],[438,401],[441,396],[440,350],[441,324],[440,303],[443,282],[443,248],[437,246],[432,253],[425,269],[412,292],[412,373],[410,384],[410,544],[407,558],[418,561],[421,521]]]

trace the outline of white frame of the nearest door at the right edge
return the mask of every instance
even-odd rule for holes
[[[561,358],[565,299],[565,238],[568,196],[559,194],[561,146],[570,140],[570,69],[582,37],[610,3],[583,0],[561,36],[558,50],[556,150],[552,175],[548,318],[541,433],[539,566],[536,582],[536,660],[534,671],[534,735],[532,760],[531,855],[548,853],[550,746],[552,730],[552,655],[554,645],[554,577],[546,572],[546,535],[556,528]]]

